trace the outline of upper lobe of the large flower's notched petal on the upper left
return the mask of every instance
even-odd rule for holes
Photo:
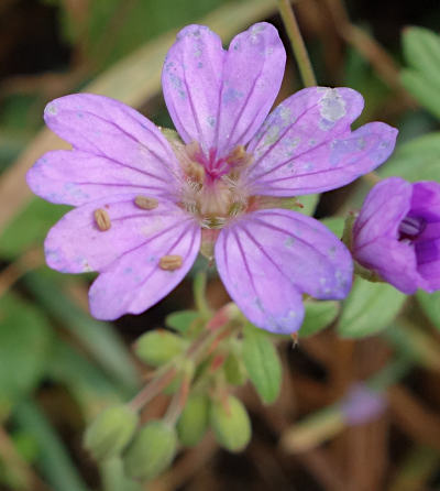
[[[74,149],[154,176],[164,192],[177,188],[180,167],[169,143],[129,106],[94,94],[74,94],[50,102],[44,119]]]

